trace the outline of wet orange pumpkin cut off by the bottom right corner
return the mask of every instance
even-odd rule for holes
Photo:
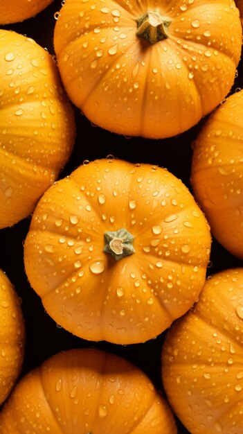
[[[243,432],[243,268],[206,280],[162,351],[167,397],[191,434]]]

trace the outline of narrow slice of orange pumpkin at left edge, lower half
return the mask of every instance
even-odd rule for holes
[[[0,404],[10,394],[24,359],[25,324],[20,299],[0,270]]]

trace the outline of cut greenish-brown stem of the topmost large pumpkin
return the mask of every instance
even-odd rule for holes
[[[136,35],[143,37],[150,44],[166,39],[171,19],[163,17],[159,11],[147,11],[141,18],[136,19],[138,30]]]

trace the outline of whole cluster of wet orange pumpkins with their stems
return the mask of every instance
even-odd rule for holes
[[[18,381],[24,317],[1,271],[1,434],[175,434],[175,416],[191,434],[242,433],[243,268],[206,278],[212,236],[243,259],[243,91],[231,93],[242,3],[62,1],[54,59],[5,28],[51,0],[0,0],[0,228],[31,216],[26,276],[66,331],[116,345],[166,332],[164,394],[98,349],[54,354]],[[60,177],[74,107],[161,146],[205,118],[192,192],[165,168],[111,156]]]

